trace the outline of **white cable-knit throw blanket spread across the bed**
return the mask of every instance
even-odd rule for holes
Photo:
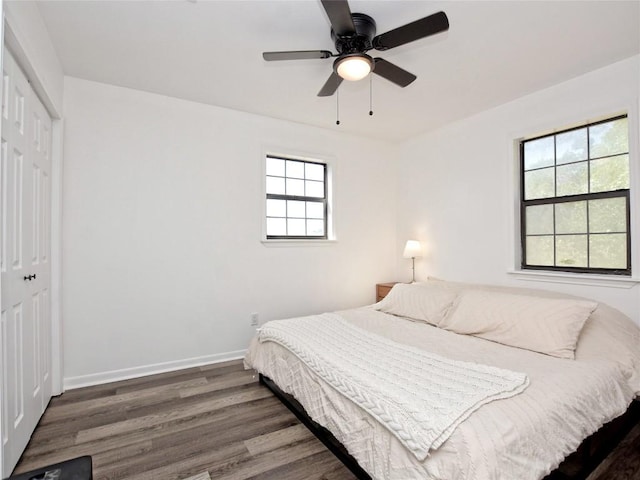
[[[517,395],[529,384],[524,373],[407,347],[335,313],[269,322],[258,338],[294,353],[418,460],[482,405]]]

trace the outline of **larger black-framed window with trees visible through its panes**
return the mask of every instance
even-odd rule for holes
[[[522,268],[631,274],[627,117],[520,142]]]

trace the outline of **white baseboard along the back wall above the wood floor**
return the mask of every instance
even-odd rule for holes
[[[236,350],[235,352],[217,353],[202,357],[185,358],[172,362],[156,363],[153,365],[143,365],[141,367],[123,368],[121,370],[111,370],[108,372],[91,373],[89,375],[79,375],[77,377],[67,377],[63,381],[64,390],[74,388],[89,387],[103,383],[118,382],[130,378],[145,377],[156,373],[172,372],[184,368],[200,367],[211,363],[226,362],[244,358],[246,350]]]

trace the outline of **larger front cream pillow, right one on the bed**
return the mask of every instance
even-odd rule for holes
[[[597,303],[482,290],[463,292],[439,327],[554,357],[575,357]]]

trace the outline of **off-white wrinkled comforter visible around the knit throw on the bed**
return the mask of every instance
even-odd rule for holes
[[[524,372],[530,380],[522,394],[482,406],[420,461],[287,349],[254,339],[246,365],[294,395],[375,479],[540,479],[584,438],[624,413],[640,393],[638,328],[606,306],[585,325],[576,360],[458,335],[372,308],[340,313],[354,325],[396,342]]]

